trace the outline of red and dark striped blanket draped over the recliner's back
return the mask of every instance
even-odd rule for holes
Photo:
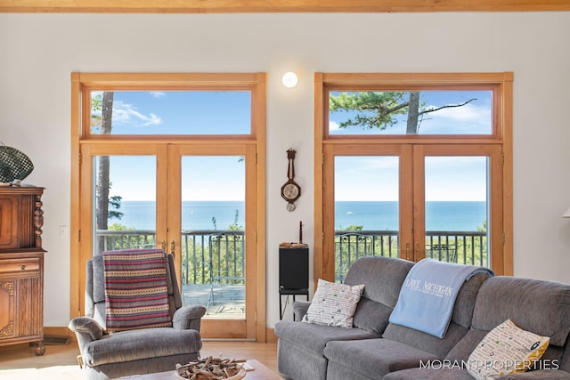
[[[106,252],[103,253],[103,270],[107,331],[172,326],[164,251]]]

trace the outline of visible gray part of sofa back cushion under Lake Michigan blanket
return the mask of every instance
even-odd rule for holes
[[[444,338],[432,336],[410,327],[390,323],[383,337],[409,344],[444,358],[452,347],[468,333],[479,288],[490,278],[487,273],[477,273],[463,284],[453,306],[452,320]],[[421,318],[421,316],[418,316]]]

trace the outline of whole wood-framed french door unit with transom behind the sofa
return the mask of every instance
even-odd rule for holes
[[[512,83],[503,73],[315,73],[314,279],[361,255],[511,275]]]

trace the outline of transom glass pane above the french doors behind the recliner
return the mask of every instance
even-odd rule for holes
[[[109,113],[109,115],[107,115]],[[103,125],[111,118],[112,128]],[[249,91],[93,91],[91,134],[249,134]]]

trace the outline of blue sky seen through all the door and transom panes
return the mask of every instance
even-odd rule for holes
[[[419,133],[489,133],[489,91],[421,92],[420,101],[426,107],[441,107],[472,98],[476,101],[465,106],[428,114]],[[116,92],[113,133],[248,133],[250,101],[247,91]],[[339,131],[338,123],[352,116],[354,113],[346,112],[330,115],[330,133],[371,133],[354,128]],[[405,120],[377,133],[405,133]],[[397,159],[337,158],[335,165],[338,179],[343,180],[336,184],[337,200],[397,200]],[[183,200],[242,200],[243,166],[236,157],[183,158]],[[485,158],[428,158],[426,172],[427,200],[485,200]],[[153,157],[113,157],[111,176],[111,195],[125,200],[156,197]]]

